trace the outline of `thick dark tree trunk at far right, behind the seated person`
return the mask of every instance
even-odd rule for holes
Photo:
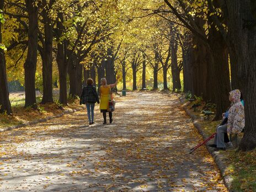
[[[249,0],[227,0],[227,25],[230,30],[228,48],[236,65],[236,74],[241,82],[244,96],[246,129],[239,145],[242,151],[253,150],[256,147],[256,29],[255,7]]]

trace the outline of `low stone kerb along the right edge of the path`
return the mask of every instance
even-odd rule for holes
[[[180,103],[184,104],[185,102],[185,98],[183,98],[182,96],[178,96]],[[186,114],[188,114],[190,116],[190,118],[193,121],[194,126],[196,127],[196,129],[198,130],[199,134],[202,136],[202,138],[204,140],[206,140],[206,138],[209,137],[209,135],[206,135],[205,132],[203,131],[200,123],[196,120],[196,116],[191,114],[190,111],[188,109],[186,109],[185,106],[183,106],[183,109],[186,111]],[[227,188],[228,191],[232,191],[231,190],[231,182],[232,182],[232,177],[230,175],[225,175],[225,171],[227,169],[227,165],[222,161],[221,159],[221,154],[219,154],[217,151],[215,151],[213,148],[205,145],[205,147],[207,148],[208,152],[211,154],[211,156],[214,158],[214,161],[218,167],[218,169],[220,169],[221,172],[221,177],[223,179],[223,182]]]

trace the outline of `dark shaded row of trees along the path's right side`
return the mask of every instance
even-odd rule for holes
[[[231,89],[242,90],[246,131],[240,149],[252,150],[256,146],[255,1],[164,2],[168,8],[159,7],[152,12],[162,17],[173,15],[172,22],[190,31],[190,41],[183,54],[184,89],[216,103],[216,120],[229,105],[227,93]]]

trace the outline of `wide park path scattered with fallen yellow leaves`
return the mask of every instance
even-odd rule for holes
[[[118,99],[113,124],[84,111],[0,134],[0,191],[227,191],[173,94]]]

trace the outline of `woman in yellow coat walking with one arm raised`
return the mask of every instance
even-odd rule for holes
[[[110,89],[115,87],[116,84],[118,84],[118,81],[116,81],[114,84],[106,84],[106,78],[100,79],[100,86],[99,88],[99,95],[100,95],[100,112],[103,113],[104,122],[103,124],[106,124],[106,112],[108,112],[108,105],[109,105],[109,97],[110,97]],[[109,122],[113,122],[112,119],[112,112],[109,112]]]

